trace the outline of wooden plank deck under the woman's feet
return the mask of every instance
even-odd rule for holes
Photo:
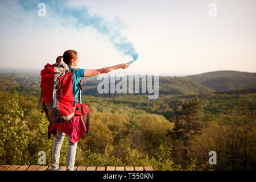
[[[66,167],[61,166],[61,171],[65,171]],[[51,166],[19,166],[19,165],[1,165],[0,171],[51,171]],[[75,166],[74,171],[153,171],[151,166]]]

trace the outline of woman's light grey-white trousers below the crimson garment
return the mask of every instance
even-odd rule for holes
[[[60,150],[64,140],[65,134],[62,131],[58,131],[55,134],[55,139],[52,145],[52,169],[56,170],[59,168]],[[77,142],[73,144],[71,137],[68,138],[68,149],[66,158],[66,171],[73,171],[76,159],[76,148]]]

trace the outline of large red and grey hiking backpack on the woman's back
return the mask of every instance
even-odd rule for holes
[[[63,123],[75,115],[72,78],[65,63],[47,64],[41,71],[42,91],[38,106],[42,101],[43,111],[51,123]]]

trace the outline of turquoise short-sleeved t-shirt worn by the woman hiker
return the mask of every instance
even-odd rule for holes
[[[72,69],[73,67],[70,67],[69,69]],[[84,77],[84,71],[85,69],[78,69],[75,73],[73,73],[73,94],[74,94],[74,103],[76,102],[76,98],[77,95],[79,93],[79,83],[82,79],[82,77]],[[80,93],[80,98],[82,96],[82,93]],[[77,103],[79,103],[79,101],[77,101]],[[80,103],[82,103],[82,100],[80,101]]]

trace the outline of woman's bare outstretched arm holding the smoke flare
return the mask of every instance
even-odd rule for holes
[[[123,63],[123,64],[114,65],[113,67],[105,67],[101,69],[85,69],[84,76],[100,75],[102,73],[109,73],[110,71],[114,71],[115,69],[119,69],[119,68],[126,69],[128,67],[129,67],[128,64]]]

